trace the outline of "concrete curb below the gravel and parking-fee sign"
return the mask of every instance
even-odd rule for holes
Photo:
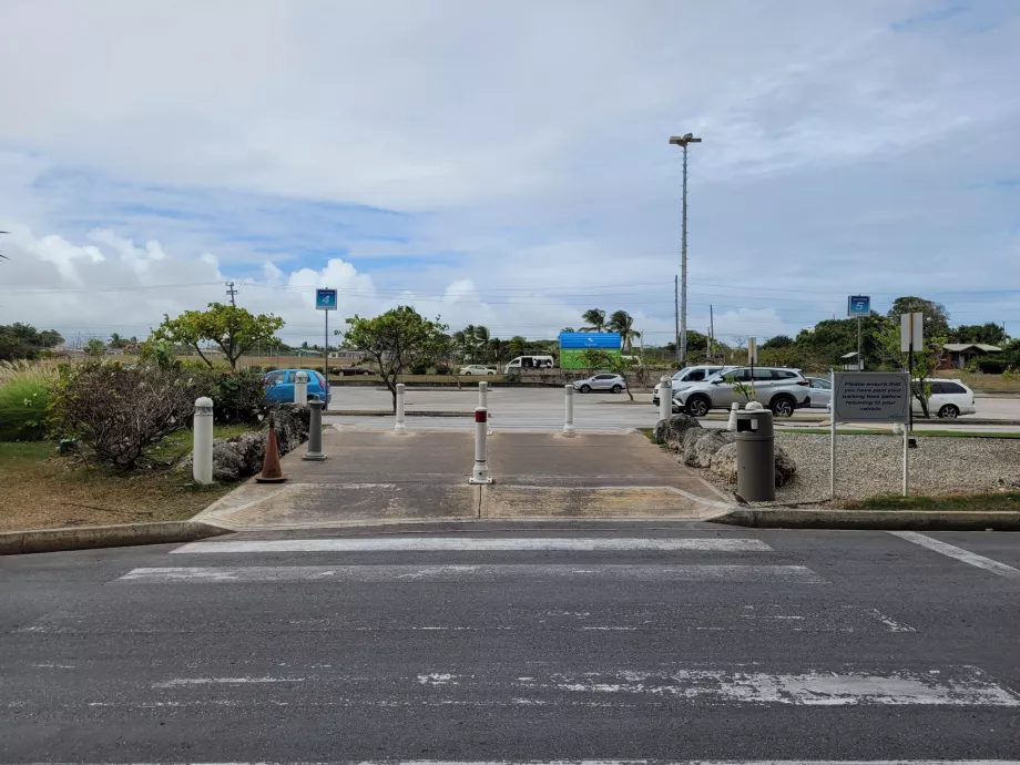
[[[938,510],[741,509],[713,523],[755,529],[858,529],[861,531],[1020,531],[1020,512]]]

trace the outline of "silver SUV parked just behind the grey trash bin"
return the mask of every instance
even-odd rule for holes
[[[776,417],[792,417],[795,409],[810,406],[810,384],[797,369],[783,367],[734,367],[695,382],[673,396],[673,409],[693,417],[704,417],[710,409],[728,409],[747,398],[734,390],[741,382],[748,390],[754,382],[754,400],[772,409]]]

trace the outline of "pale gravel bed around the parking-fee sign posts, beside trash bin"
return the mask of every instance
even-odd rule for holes
[[[828,498],[829,437],[776,434],[797,463],[793,481],[776,489],[778,502]],[[902,437],[837,436],[836,493],[840,499],[897,494],[902,489]],[[1020,439],[917,437],[910,449],[910,493],[994,491],[1020,486]]]

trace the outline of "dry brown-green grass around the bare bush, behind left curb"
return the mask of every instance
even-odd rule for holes
[[[216,438],[237,436],[248,426],[216,426]],[[164,439],[154,459],[173,462],[191,451],[192,434]],[[165,469],[122,473],[59,457],[52,441],[0,441],[0,532],[62,526],[104,526],[191,518],[233,484],[198,487],[191,472]]]

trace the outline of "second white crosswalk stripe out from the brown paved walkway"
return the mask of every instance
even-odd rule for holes
[[[329,573],[326,577],[326,573]],[[133,569],[122,582],[502,582],[629,579],[642,582],[788,582],[827,584],[804,565],[236,565]]]

